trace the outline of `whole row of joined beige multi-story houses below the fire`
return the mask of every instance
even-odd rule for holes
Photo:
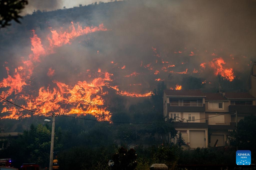
[[[249,93],[165,90],[163,102],[164,117],[173,119],[177,133],[191,148],[229,145],[236,121],[256,113],[256,98]]]

